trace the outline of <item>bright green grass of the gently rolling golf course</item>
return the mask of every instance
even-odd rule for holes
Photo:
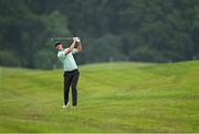
[[[63,110],[62,70],[1,67],[0,132],[199,132],[199,62],[80,71],[78,108]]]

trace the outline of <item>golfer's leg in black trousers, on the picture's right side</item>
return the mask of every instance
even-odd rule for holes
[[[78,70],[73,72],[73,79],[72,79],[72,97],[73,97],[73,107],[77,104],[77,81],[78,81]]]

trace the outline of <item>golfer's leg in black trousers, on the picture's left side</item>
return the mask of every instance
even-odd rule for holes
[[[69,72],[64,72],[64,104],[69,102],[69,91],[72,82],[72,76]]]

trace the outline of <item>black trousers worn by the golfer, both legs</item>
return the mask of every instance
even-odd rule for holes
[[[77,104],[77,81],[78,81],[78,70],[72,70],[72,71],[64,71],[64,103],[65,105],[69,102],[69,92],[70,87],[72,87],[72,100],[73,105]]]

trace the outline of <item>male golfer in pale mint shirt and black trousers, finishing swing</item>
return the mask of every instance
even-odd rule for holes
[[[72,104],[75,108],[77,105],[77,81],[78,81],[78,68],[74,60],[73,54],[82,52],[82,44],[78,37],[73,37],[70,47],[63,48],[62,43],[55,44],[57,51],[57,58],[63,64],[64,69],[64,104],[63,109],[69,107],[69,91],[72,87]]]

